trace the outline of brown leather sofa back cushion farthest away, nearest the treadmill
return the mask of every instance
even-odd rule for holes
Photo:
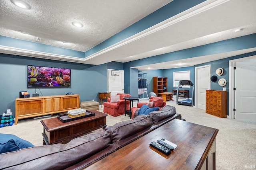
[[[164,106],[159,111],[152,111],[148,116],[152,117],[153,123],[157,123],[176,114],[176,108],[170,105]]]

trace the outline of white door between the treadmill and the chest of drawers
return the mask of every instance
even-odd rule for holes
[[[199,109],[205,110],[206,90],[211,88],[211,65],[196,67],[196,104]]]

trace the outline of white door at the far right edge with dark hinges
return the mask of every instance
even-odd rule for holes
[[[236,62],[235,119],[256,119],[256,61]]]

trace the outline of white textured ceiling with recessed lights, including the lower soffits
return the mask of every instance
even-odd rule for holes
[[[1,0],[0,35],[28,41],[39,37],[40,43],[87,51],[172,0],[24,1],[30,4],[30,10],[18,8],[10,0]],[[256,0],[207,0],[84,59],[5,47],[0,48],[0,53],[46,59],[50,56],[55,60],[95,65],[111,61],[125,63],[256,33],[255,7]],[[72,21],[80,21],[84,27],[76,28]],[[236,29],[242,31],[235,33]],[[252,51],[255,48],[134,68],[192,66]],[[179,62],[183,64],[177,66]]]

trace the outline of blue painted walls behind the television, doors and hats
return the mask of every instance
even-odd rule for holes
[[[225,78],[228,81],[228,62],[229,60],[249,57],[256,55],[256,51],[252,53],[247,53],[244,55],[238,55],[234,57],[229,57],[222,60],[213,61],[210,63],[199,64],[194,67],[183,67],[183,68],[172,68],[165,70],[148,70],[141,71],[140,74],[144,74],[148,78],[148,93],[152,92],[152,78],[154,76],[166,76],[168,77],[168,91],[173,88],[173,73],[174,71],[191,71],[191,80],[194,82],[194,68],[197,66],[202,66],[206,64],[211,64],[212,71],[211,76],[216,75],[215,70],[219,67],[224,68],[224,74],[222,76],[217,76],[219,78]],[[68,63],[60,61],[51,61],[45,59],[35,59],[31,57],[6,55],[0,53],[0,111],[2,113],[6,112],[6,109],[11,109],[14,113],[15,111],[15,99],[19,97],[20,91],[28,91],[30,94],[35,92],[35,89],[26,88],[26,76],[27,76],[27,65],[39,65],[39,66],[52,66],[52,67],[62,67],[71,68],[71,88],[41,88],[41,92],[44,96],[47,95],[59,95],[66,94],[67,92],[72,92],[80,95],[80,101],[86,100],[98,100],[98,92],[107,91],[107,69],[118,69],[125,70],[125,92],[130,93],[133,96],[138,96],[138,70],[134,68],[129,68],[126,70],[125,65],[127,63],[111,62],[107,64],[101,64],[98,66],[89,64],[78,64],[78,63]],[[131,76],[130,76],[131,75]],[[131,84],[131,86],[130,86]],[[130,88],[131,87],[131,88]],[[225,86],[228,90],[228,82]],[[219,86],[217,82],[211,82],[211,88],[215,90],[222,90],[223,87]],[[192,92],[192,90],[190,90]],[[37,92],[40,91],[37,89]],[[191,93],[190,92],[190,93]],[[40,93],[40,95],[42,95]],[[190,94],[191,96],[191,94]],[[143,95],[140,95],[142,98]],[[146,94],[144,94],[146,97]],[[1,113],[1,114],[2,114]]]

